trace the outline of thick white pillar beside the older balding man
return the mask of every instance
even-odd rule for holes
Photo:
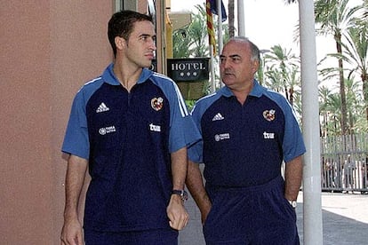
[[[299,1],[303,136],[307,147],[303,172],[303,239],[323,244],[321,168],[316,73],[316,31],[313,0]]]

